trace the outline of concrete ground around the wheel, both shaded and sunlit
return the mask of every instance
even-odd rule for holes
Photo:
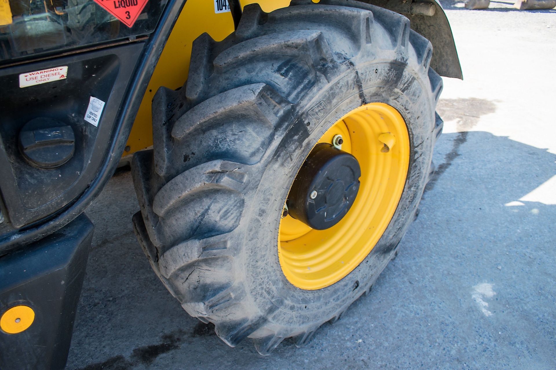
[[[443,1],[465,80],[445,79],[437,171],[373,292],[297,349],[229,348],[151,271],[129,173],[97,225],[69,369],[556,368],[556,11]]]

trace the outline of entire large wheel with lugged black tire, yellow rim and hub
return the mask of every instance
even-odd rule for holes
[[[347,0],[254,4],[226,39],[195,40],[132,164],[136,234],[191,316],[268,354],[370,290],[428,181],[432,52],[407,18]]]

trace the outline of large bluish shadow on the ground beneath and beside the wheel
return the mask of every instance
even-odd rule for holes
[[[474,103],[495,109],[444,102]],[[442,135],[435,161],[443,171],[373,292],[305,348],[286,340],[269,357],[250,339],[227,347],[165,290],[131,232],[130,175],[118,175],[89,212],[96,245],[68,368],[553,368],[556,206],[507,204],[554,176],[556,155],[466,131]]]

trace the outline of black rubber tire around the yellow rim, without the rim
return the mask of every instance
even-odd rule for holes
[[[432,47],[407,18],[355,1],[292,5],[247,6],[222,42],[197,38],[184,88],[153,100],[153,150],[132,164],[133,222],[153,270],[191,316],[215,323],[230,346],[254,338],[261,354],[287,337],[301,346],[370,290],[415,217],[442,126]],[[371,102],[408,126],[398,208],[355,270],[302,290],[277,256],[289,187],[322,133]]]

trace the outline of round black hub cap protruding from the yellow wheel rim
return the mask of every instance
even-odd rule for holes
[[[336,225],[359,190],[355,157],[330,144],[317,144],[301,166],[287,199],[289,214],[316,230]]]

